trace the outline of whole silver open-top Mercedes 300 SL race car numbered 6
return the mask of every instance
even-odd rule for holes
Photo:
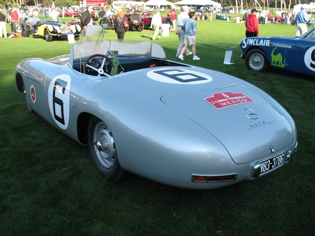
[[[297,148],[295,122],[268,94],[169,61],[151,42],[78,41],[68,55],[21,61],[15,80],[27,109],[88,145],[112,182],[132,172],[180,188],[220,188],[284,166]]]

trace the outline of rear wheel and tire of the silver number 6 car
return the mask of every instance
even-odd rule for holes
[[[96,170],[110,182],[121,181],[127,171],[119,164],[113,134],[110,128],[95,116],[89,121],[88,142]]]

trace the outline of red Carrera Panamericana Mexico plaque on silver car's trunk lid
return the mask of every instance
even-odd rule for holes
[[[204,98],[204,100],[214,106],[217,110],[238,104],[255,102],[243,93],[232,92],[214,93],[212,94],[212,97]]]

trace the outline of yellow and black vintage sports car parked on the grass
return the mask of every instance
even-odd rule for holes
[[[75,40],[81,33],[80,25],[66,25],[58,20],[40,20],[31,27],[31,34],[34,38],[45,37],[46,41],[51,42],[54,38],[67,38],[68,34],[74,34]]]

